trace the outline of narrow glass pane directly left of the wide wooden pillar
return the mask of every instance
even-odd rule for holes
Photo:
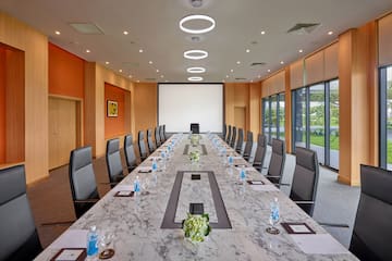
[[[329,146],[330,146],[330,166],[339,169],[339,80],[334,79],[329,83]]]

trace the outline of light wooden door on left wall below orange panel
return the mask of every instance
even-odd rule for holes
[[[77,145],[78,101],[49,98],[49,170],[69,163]]]

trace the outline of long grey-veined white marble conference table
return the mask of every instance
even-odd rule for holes
[[[299,209],[286,195],[243,160],[230,147],[234,165],[245,165],[249,181],[265,185],[242,184],[238,170],[229,167],[219,154],[211,136],[201,135],[200,144],[191,146],[187,135],[173,135],[135,171],[101,198],[36,260],[51,260],[61,248],[86,247],[87,229],[111,231],[115,250],[110,260],[357,260],[333,239],[316,221]],[[145,173],[151,159],[159,162],[161,150],[176,140],[166,169]],[[223,144],[219,139],[220,144]],[[200,151],[199,164],[188,153]],[[161,161],[162,162],[162,161]],[[142,172],[143,173],[142,173]],[[293,170],[294,171],[294,170]],[[148,181],[146,195],[114,197],[118,191],[133,189],[135,177]],[[280,204],[280,234],[266,232],[270,226],[270,202]],[[189,203],[203,203],[209,214],[211,233],[205,241],[184,239],[181,222]],[[289,234],[282,222],[306,223],[315,234]],[[98,260],[95,258],[93,260]]]

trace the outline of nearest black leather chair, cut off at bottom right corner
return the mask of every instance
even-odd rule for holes
[[[392,260],[392,172],[360,165],[360,184],[350,251],[360,260]]]

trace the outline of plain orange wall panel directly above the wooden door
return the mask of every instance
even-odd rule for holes
[[[84,60],[49,42],[49,94],[84,98]]]

